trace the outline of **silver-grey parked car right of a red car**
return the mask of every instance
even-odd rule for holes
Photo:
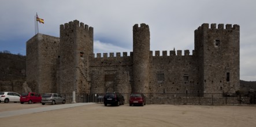
[[[51,104],[62,103],[62,104],[65,104],[66,100],[60,94],[57,94],[57,93],[47,93],[47,94],[43,94],[42,95],[41,103],[43,105],[46,104],[46,103],[51,103]]]

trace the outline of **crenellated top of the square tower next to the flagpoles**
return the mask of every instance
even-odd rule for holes
[[[87,24],[84,23],[79,23],[78,20],[70,21],[69,23],[61,24],[60,29],[73,29],[73,28],[81,28],[84,29],[85,31],[90,31],[93,32],[94,28],[89,27]]]

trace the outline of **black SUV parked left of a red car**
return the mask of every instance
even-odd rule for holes
[[[105,106],[107,106],[107,104],[119,106],[120,104],[124,104],[124,96],[119,92],[107,92],[103,102]]]

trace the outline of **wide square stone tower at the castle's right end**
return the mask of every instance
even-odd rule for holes
[[[203,93],[234,93],[239,89],[239,25],[202,24],[195,30],[199,79]]]

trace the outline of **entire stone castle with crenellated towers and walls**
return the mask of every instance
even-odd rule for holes
[[[93,51],[94,29],[74,20],[60,38],[38,33],[27,42],[27,84],[39,93],[235,93],[239,89],[239,25],[202,24],[189,50],[150,51],[150,29],[133,26],[133,51]],[[184,35],[185,36],[185,35]],[[103,56],[103,57],[102,57]]]

